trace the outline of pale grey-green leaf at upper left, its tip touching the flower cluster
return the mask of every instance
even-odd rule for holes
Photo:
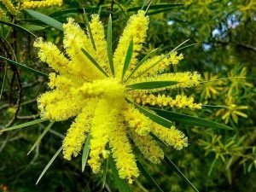
[[[53,26],[56,29],[63,31],[63,25],[60,21],[55,20],[47,15],[41,14],[41,13],[31,10],[31,9],[25,9],[25,10],[29,15],[32,15],[32,17],[42,21],[43,23],[45,23],[49,26]]]

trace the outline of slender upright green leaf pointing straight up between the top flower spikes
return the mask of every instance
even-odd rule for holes
[[[113,68],[113,50],[112,50],[112,17],[109,15],[108,19],[108,33],[107,33],[107,43],[108,43],[108,62],[111,73],[114,75]]]

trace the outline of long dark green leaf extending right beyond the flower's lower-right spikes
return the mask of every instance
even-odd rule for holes
[[[165,119],[180,122],[183,124],[212,127],[212,128],[224,129],[224,130],[233,130],[233,128],[231,128],[230,126],[218,124],[211,120],[201,119],[201,118],[189,116],[187,114],[182,114],[182,113],[174,113],[171,111],[166,111],[158,108],[151,108],[151,109]]]

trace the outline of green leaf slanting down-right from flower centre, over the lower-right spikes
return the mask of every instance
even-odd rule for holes
[[[168,119],[164,119],[160,117],[158,114],[154,113],[153,111],[149,111],[148,109],[137,105],[135,102],[131,102],[128,99],[126,99],[126,101],[132,103],[141,113],[146,115],[149,119],[152,119],[155,123],[159,125],[163,125],[167,128],[170,128],[172,126],[172,122],[169,121]]]

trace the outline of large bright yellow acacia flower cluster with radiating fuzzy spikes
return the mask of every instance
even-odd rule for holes
[[[138,59],[148,22],[143,10],[132,15],[113,57],[108,54],[109,42],[105,40],[99,15],[91,16],[88,33],[84,33],[73,19],[67,20],[63,25],[65,55],[55,44],[44,42],[42,38],[34,44],[39,58],[55,70],[49,74],[50,90],[38,97],[42,116],[52,121],[75,117],[63,140],[64,158],[71,160],[77,156],[90,134],[88,164],[92,171],[100,172],[102,160],[113,155],[119,177],[129,183],[139,175],[131,141],[153,163],[160,163],[164,153],[151,133],[176,149],[188,145],[181,131],[174,126],[154,123],[136,108],[135,103],[144,107],[201,108],[192,97],[178,95],[172,98],[160,94],[162,90],[199,84],[198,73],[167,73],[170,64],[177,65],[183,55],[172,51],[145,59],[143,64]],[[158,82],[174,84],[142,87]]]

